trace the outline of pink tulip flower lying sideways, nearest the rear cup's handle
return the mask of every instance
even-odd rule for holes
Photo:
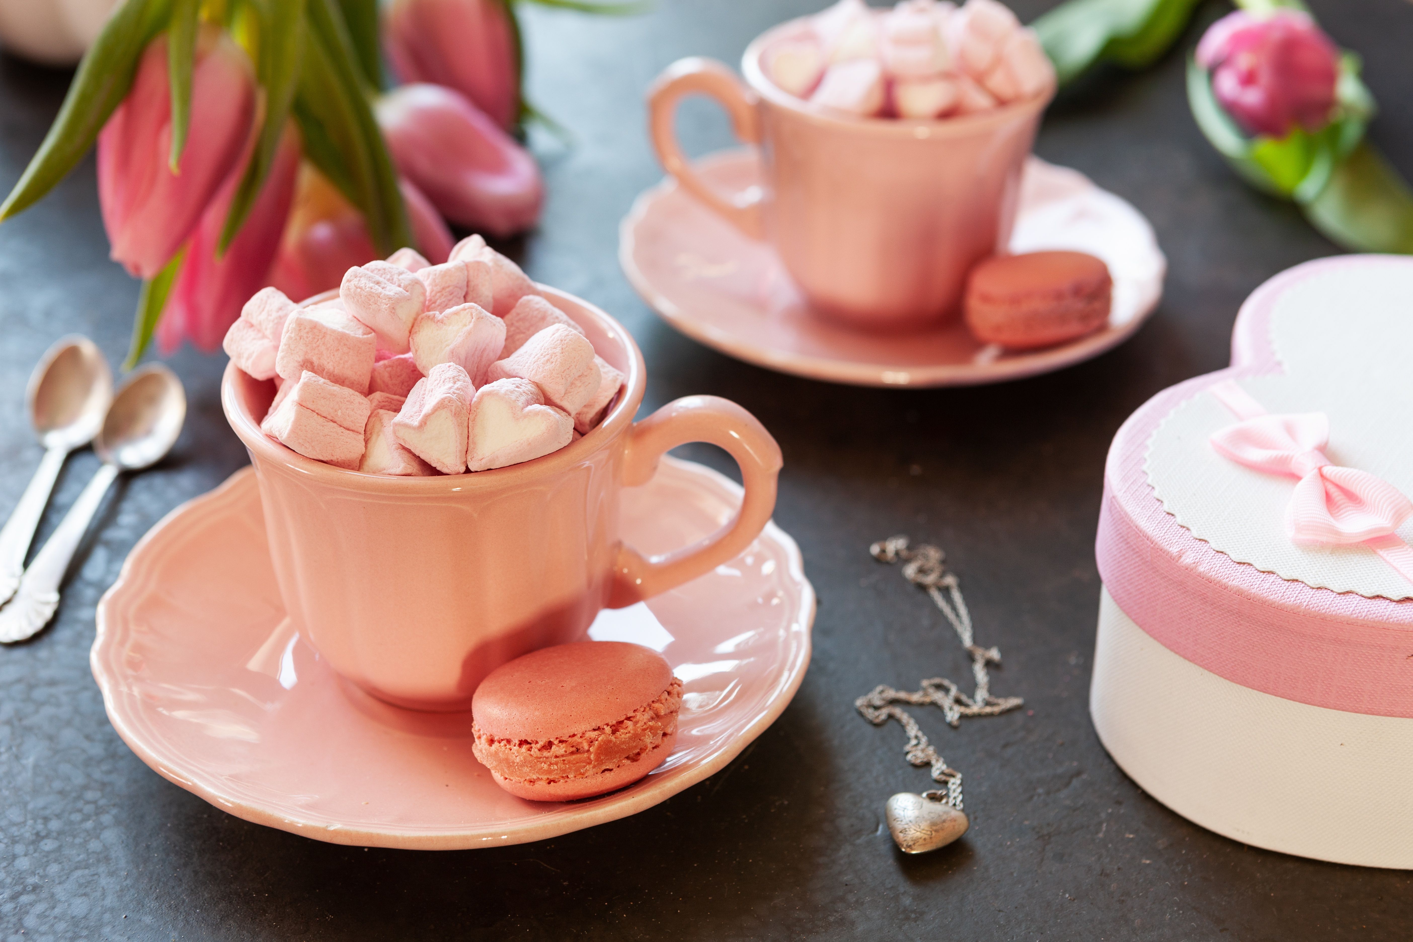
[[[544,201],[540,167],[461,93],[404,85],[374,112],[397,169],[442,216],[496,236],[534,226]]]

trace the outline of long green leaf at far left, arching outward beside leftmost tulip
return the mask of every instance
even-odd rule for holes
[[[171,6],[172,0],[127,0],[113,11],[79,62],[44,143],[0,203],[0,220],[42,199],[83,160],[133,86],[143,49],[167,27]]]

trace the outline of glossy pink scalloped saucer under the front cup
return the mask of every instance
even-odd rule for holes
[[[664,552],[739,501],[726,477],[664,458],[649,484],[623,491],[623,535]],[[472,757],[469,713],[374,700],[288,633],[246,469],[137,544],[99,603],[90,662],[123,741],[222,811],[332,843],[451,850],[623,818],[719,771],[790,703],[812,623],[800,551],[773,523],[714,573],[602,612],[591,637],[660,650],[684,682],[675,750],[602,798],[521,801]]]

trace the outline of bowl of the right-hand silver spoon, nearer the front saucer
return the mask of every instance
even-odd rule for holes
[[[117,391],[93,439],[93,451],[122,470],[150,467],[177,443],[185,419],[181,380],[160,363],[144,366]]]

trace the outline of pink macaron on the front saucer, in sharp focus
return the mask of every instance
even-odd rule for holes
[[[472,751],[517,798],[591,798],[663,764],[681,705],[682,682],[657,651],[623,641],[560,644],[480,682]]]

